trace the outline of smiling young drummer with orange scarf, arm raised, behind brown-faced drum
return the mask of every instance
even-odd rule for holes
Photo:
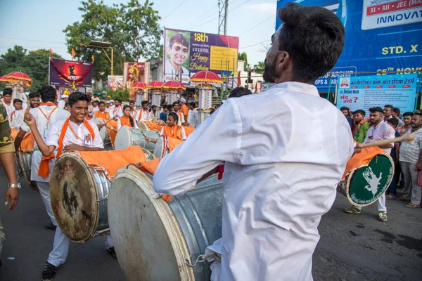
[[[41,93],[42,95],[42,93]],[[46,140],[37,129],[37,121],[30,113],[25,114],[25,122],[34,134],[35,141],[44,157],[52,157],[53,162],[64,151],[101,151],[103,141],[96,124],[85,119],[91,98],[84,93],[74,92],[69,96],[70,117],[58,121],[49,130]],[[56,157],[55,157],[56,155]],[[51,173],[52,169],[49,170]],[[107,236],[106,247],[114,252],[110,235]],[[65,263],[69,251],[69,240],[60,228],[56,228],[53,250],[44,266],[41,280],[52,280],[58,266]]]

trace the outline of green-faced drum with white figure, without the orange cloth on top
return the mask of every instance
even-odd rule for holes
[[[345,180],[338,183],[337,190],[354,206],[367,206],[376,202],[388,189],[394,169],[390,155],[376,155],[367,165],[352,170]]]

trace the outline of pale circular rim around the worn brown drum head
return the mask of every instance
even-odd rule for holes
[[[88,181],[91,183],[91,186],[95,187],[94,188],[94,197],[95,198],[93,200],[94,204],[92,205],[93,209],[94,209],[94,212],[92,213],[92,216],[94,216],[94,223],[92,223],[92,226],[89,228],[89,234],[87,234],[86,236],[82,237],[79,240],[75,240],[75,239],[72,239],[71,237],[66,235],[66,233],[63,232],[66,235],[66,237],[69,238],[69,240],[71,240],[72,242],[81,244],[81,243],[87,242],[91,238],[91,235],[94,233],[94,230],[96,230],[96,228],[98,227],[99,211],[100,211],[100,204],[98,202],[98,189],[96,188],[96,181],[95,181],[94,176],[91,172],[90,166],[87,164],[87,162],[85,162],[85,160],[81,157],[81,155],[79,155],[78,152],[73,152],[73,151],[63,152],[63,154],[60,155],[60,157],[58,157],[56,163],[54,163],[53,170],[54,170],[54,168],[56,168],[56,164],[58,163],[60,158],[68,157],[68,156],[73,156],[72,159],[76,159],[78,162],[80,162],[80,164],[82,164],[82,166],[84,166],[87,169],[88,174],[89,174]],[[50,197],[51,197],[51,191],[50,191]],[[51,209],[53,209],[54,216],[57,217],[56,211],[54,210],[54,208],[51,208]],[[59,220],[56,220],[56,221],[57,221],[57,224],[59,225],[60,224]],[[59,227],[60,227],[60,225],[59,225]]]

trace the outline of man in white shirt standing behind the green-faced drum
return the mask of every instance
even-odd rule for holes
[[[387,106],[385,107],[387,108]],[[386,140],[388,138],[395,138],[395,130],[387,122],[383,122],[383,112],[385,112],[381,107],[372,107],[369,108],[369,123],[371,127],[366,133],[366,138],[364,143],[372,143],[373,141]],[[391,149],[394,147],[394,143],[389,143],[388,145],[381,145],[380,148],[383,148],[385,152],[390,155]],[[385,192],[381,197],[378,198],[376,202],[376,207],[378,208],[378,221],[387,221],[387,207],[385,206]],[[347,214],[361,214],[362,207],[351,206],[345,208],[344,211]]]

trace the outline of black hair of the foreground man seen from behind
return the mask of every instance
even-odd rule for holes
[[[341,20],[326,8],[295,3],[277,13],[283,22],[279,51],[290,54],[295,81],[314,82],[324,76],[343,51],[345,27]]]

